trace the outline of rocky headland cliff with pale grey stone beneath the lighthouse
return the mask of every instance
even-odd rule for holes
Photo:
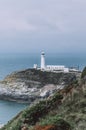
[[[35,69],[13,72],[0,82],[0,99],[32,102],[76,81],[78,73],[53,73]]]

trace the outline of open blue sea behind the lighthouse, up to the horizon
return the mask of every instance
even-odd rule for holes
[[[33,68],[34,64],[40,67],[41,53],[0,54],[0,80],[14,71]],[[46,65],[65,65],[83,70],[86,65],[84,54],[45,53]]]

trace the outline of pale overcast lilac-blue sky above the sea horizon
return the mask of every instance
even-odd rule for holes
[[[86,0],[0,0],[0,52],[85,52]]]

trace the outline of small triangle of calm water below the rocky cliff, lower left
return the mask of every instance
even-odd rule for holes
[[[26,107],[28,104],[0,100],[0,125],[6,124]]]

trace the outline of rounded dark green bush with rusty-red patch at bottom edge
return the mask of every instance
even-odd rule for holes
[[[58,115],[55,115],[42,119],[40,124],[35,126],[33,130],[71,130],[71,126]]]

